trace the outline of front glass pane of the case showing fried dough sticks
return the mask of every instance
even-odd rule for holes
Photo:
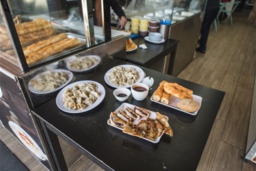
[[[96,26],[96,1],[8,0],[8,5],[29,67],[105,40],[104,22]]]

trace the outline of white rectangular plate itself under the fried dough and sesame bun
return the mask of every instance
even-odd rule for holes
[[[154,95],[154,93],[153,93]],[[152,95],[152,97],[153,97]],[[152,97],[150,97],[152,102],[156,102],[158,104],[162,104],[161,102],[157,102],[154,99],[152,99]],[[195,102],[197,102],[197,104],[199,104],[199,109],[201,108],[201,104],[202,104],[202,97],[198,96],[198,95],[192,95],[193,99],[195,100]],[[173,97],[172,95],[170,95],[170,99],[169,99],[169,104],[162,104],[164,106],[170,107],[170,108],[174,108],[176,110],[180,110],[182,112],[188,113],[188,114],[192,114],[192,115],[197,115],[197,112],[199,111],[199,109],[195,112],[186,112],[184,110],[181,110],[180,108],[177,107],[177,102],[180,102],[181,99],[177,98],[177,97]]]

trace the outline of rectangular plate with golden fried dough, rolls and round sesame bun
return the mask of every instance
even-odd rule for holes
[[[150,98],[152,102],[196,115],[201,107],[202,97],[176,82],[162,80]]]

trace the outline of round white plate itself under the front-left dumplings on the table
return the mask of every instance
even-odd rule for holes
[[[73,109],[70,109],[70,108],[64,106],[64,104],[62,102],[63,92],[66,91],[66,89],[72,89],[76,84],[81,84],[81,83],[86,84],[88,82],[94,82],[94,84],[97,85],[98,93],[100,94],[100,97],[98,97],[98,99],[96,99],[94,104],[87,106],[83,110],[73,110]],[[100,102],[102,102],[102,100],[104,99],[105,95],[106,95],[106,91],[105,91],[104,87],[102,86],[102,84],[95,82],[95,81],[91,81],[91,80],[83,80],[83,81],[73,82],[72,84],[69,84],[68,86],[64,87],[61,91],[59,91],[59,93],[56,97],[56,104],[59,107],[59,109],[63,110],[64,112],[81,113],[81,112],[86,112],[88,110],[91,110],[91,109],[95,108],[96,106],[98,106],[100,104]]]

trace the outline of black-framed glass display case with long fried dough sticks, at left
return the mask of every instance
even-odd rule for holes
[[[1,0],[0,12],[1,58],[23,71],[111,40],[109,1]]]

